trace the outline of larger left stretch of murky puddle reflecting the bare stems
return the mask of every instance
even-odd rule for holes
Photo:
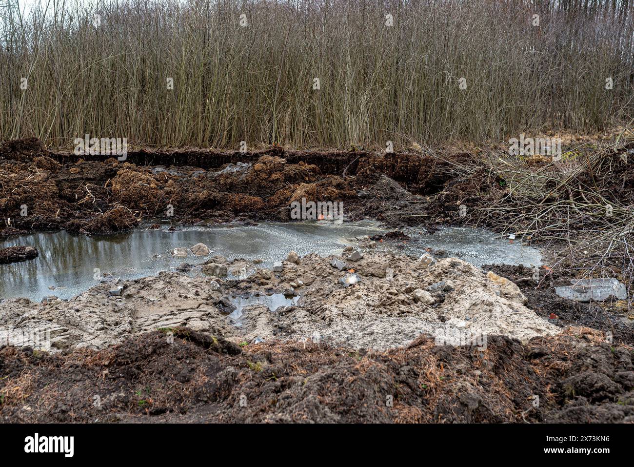
[[[228,259],[261,258],[262,267],[271,268],[290,250],[304,255],[311,252],[327,256],[345,246],[344,238],[373,235],[380,230],[375,223],[262,223],[235,228],[188,228],[135,230],[122,234],[86,237],[67,232],[42,232],[10,238],[0,247],[30,245],[37,248],[35,260],[0,265],[0,299],[25,296],[40,301],[46,295],[71,298],[96,285],[96,272],[110,273],[122,279],[137,279],[173,270],[183,262],[202,263],[212,256]],[[172,258],[175,247],[191,247],[198,242],[209,246],[209,256]],[[160,255],[153,258],[153,255]],[[49,289],[49,286],[55,287]]]

